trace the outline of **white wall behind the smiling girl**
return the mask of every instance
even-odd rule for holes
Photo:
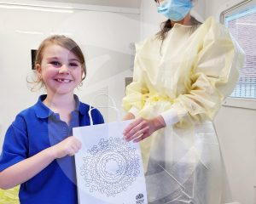
[[[78,5],[79,9],[59,9],[45,8],[53,3],[41,3],[43,8],[9,6],[1,2],[1,147],[6,129],[16,114],[35,104],[38,95],[42,94],[42,91],[31,93],[26,87],[26,77],[33,75],[30,52],[38,48],[45,37],[54,33],[72,37],[84,51],[88,74],[84,86],[76,91],[79,98],[89,103],[98,93],[110,94],[121,110],[125,77],[131,77],[132,74],[131,42],[137,42],[140,37],[139,13],[130,8],[107,10],[99,6]],[[33,4],[35,1],[20,1],[24,2]],[[55,7],[67,7],[67,4],[55,3]],[[94,104],[102,105],[102,101],[106,99],[100,98]],[[113,111],[103,113],[107,121],[115,119]]]

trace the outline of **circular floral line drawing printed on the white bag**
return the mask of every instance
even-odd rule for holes
[[[90,192],[98,191],[115,196],[136,180],[140,173],[139,156],[136,148],[124,139],[101,139],[83,157],[80,174]]]

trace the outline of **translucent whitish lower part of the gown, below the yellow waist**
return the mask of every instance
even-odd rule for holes
[[[212,122],[195,125],[184,133],[177,127],[162,132],[153,136],[148,161],[150,203],[220,203],[221,160]]]

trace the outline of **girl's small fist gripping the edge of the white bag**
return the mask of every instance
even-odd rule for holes
[[[81,142],[73,136],[64,139],[58,144],[50,147],[51,153],[55,159],[64,156],[73,156],[81,149]]]

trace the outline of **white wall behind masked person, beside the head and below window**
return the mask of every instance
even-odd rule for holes
[[[219,14],[226,8],[240,3],[241,0],[204,0],[196,1],[192,14],[207,19]],[[166,20],[157,14],[154,1],[142,1],[142,36],[145,38],[159,31],[160,22]],[[223,106],[215,118],[223,161],[223,203],[239,201],[240,204],[255,204],[256,190],[256,150],[255,150],[256,111]]]

